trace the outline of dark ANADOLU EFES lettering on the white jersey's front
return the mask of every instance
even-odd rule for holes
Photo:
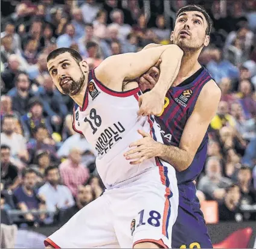
[[[124,126],[118,121],[114,123],[111,127],[104,129],[104,132],[98,137],[95,150],[97,150],[98,155],[103,156],[106,154],[118,140],[121,140],[121,134],[126,131]]]

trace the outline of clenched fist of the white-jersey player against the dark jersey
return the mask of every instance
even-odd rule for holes
[[[154,89],[139,96],[138,115],[158,115],[164,108],[165,94],[159,93]]]

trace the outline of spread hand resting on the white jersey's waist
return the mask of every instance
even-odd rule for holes
[[[146,159],[159,156],[162,151],[162,144],[153,140],[153,138],[144,131],[138,130],[138,133],[142,135],[142,139],[130,144],[129,147],[136,147],[128,152],[124,153],[126,160],[136,159],[136,161],[130,162],[130,164],[141,164]]]

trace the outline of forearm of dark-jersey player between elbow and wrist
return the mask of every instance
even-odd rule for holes
[[[186,150],[175,146],[166,146],[164,144],[161,144],[161,154],[159,158],[171,164],[171,166],[178,171],[186,170],[193,161],[193,156]]]

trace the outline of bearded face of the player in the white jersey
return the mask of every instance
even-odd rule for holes
[[[68,52],[48,61],[47,68],[59,91],[69,96],[74,96],[80,92],[88,75],[86,61],[83,60],[78,64]]]

